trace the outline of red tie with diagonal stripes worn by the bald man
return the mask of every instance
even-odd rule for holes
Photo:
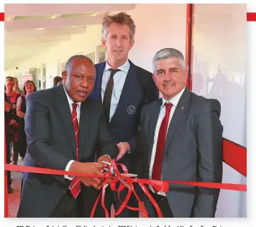
[[[72,103],[73,111],[72,111],[72,119],[73,119],[73,126],[75,129],[75,138],[76,138],[76,161],[79,160],[79,151],[78,151],[78,138],[79,138],[79,125],[78,125],[78,115],[76,113],[76,107],[78,106],[78,103]],[[78,196],[78,194],[81,191],[81,181],[78,180],[77,177],[75,177],[71,183],[70,183],[70,193],[73,195],[74,198]]]

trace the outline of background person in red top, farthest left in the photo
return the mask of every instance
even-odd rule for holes
[[[13,153],[12,153],[12,162],[14,165],[17,165],[18,158],[19,158],[19,117],[17,116],[17,100],[21,93],[17,93],[14,91],[14,78],[6,78],[6,96],[9,99],[9,103],[11,105],[11,112],[12,112],[12,121],[11,124],[11,131],[12,131],[12,138],[11,141],[13,142]]]

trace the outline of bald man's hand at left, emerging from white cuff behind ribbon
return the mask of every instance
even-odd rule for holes
[[[88,174],[95,174],[95,175],[102,175],[103,174],[103,168],[104,164],[103,163],[98,163],[98,162],[73,162],[70,165],[69,170],[71,172],[85,172]],[[86,186],[93,186],[96,189],[101,189],[103,187],[103,182],[104,178],[99,178],[99,177],[78,177],[81,182],[83,182],[84,185]]]

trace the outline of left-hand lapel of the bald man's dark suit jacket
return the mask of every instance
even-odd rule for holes
[[[56,103],[58,106],[58,111],[60,112],[60,117],[63,119],[65,128],[68,132],[68,138],[70,139],[70,143],[73,147],[73,154],[76,157],[76,139],[75,139],[75,132],[74,126],[72,121],[72,115],[70,111],[70,107],[68,105],[68,98],[65,95],[65,91],[63,86],[58,86],[56,88]]]

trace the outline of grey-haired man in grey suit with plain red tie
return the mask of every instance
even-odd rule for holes
[[[219,101],[197,96],[186,86],[179,50],[166,48],[153,60],[153,79],[163,98],[142,109],[138,151],[140,177],[152,180],[221,182],[222,131]],[[149,186],[163,217],[214,217],[219,190],[170,185],[167,193]],[[145,200],[150,216],[155,208]]]

